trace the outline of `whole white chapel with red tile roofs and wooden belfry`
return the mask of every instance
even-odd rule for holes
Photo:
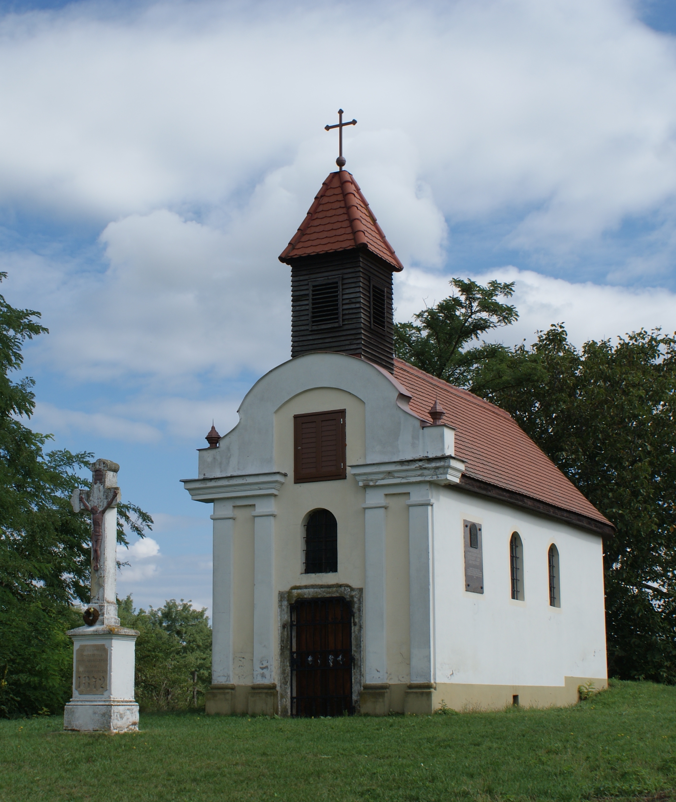
[[[395,358],[403,265],[337,163],[279,257],[291,358],[184,480],[213,504],[206,711],[574,703],[607,684],[613,526],[507,412]]]

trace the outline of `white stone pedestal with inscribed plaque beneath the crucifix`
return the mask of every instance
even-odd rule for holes
[[[73,639],[73,696],[63,711],[63,729],[130,732],[139,728],[134,701],[136,630],[80,626]]]

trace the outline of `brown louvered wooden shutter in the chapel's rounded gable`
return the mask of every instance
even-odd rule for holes
[[[293,415],[293,481],[345,479],[345,410]]]

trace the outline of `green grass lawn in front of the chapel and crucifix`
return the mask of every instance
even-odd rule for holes
[[[145,714],[128,735],[0,721],[0,800],[676,800],[676,687],[383,719]]]

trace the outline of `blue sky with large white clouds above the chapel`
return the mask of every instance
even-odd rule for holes
[[[0,2],[0,269],[50,334],[32,425],[156,518],[119,592],[210,602],[179,480],[289,356],[277,261],[347,167],[406,269],[516,282],[512,344],[676,329],[673,0]]]

